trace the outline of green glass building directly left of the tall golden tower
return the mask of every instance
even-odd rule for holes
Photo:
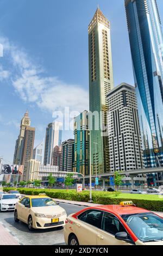
[[[74,118],[74,166],[73,171],[89,174],[88,112]]]

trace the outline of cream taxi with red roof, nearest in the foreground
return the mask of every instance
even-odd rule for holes
[[[66,220],[67,245],[163,245],[163,218],[133,202],[100,205]]]

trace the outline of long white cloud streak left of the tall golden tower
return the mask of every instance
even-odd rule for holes
[[[10,59],[13,68],[12,85],[23,101],[36,103],[52,113],[63,111],[65,106],[79,112],[88,108],[89,97],[84,88],[78,84],[67,84],[55,76],[46,76],[43,68],[35,64],[24,50],[7,38],[0,38],[0,42],[4,46],[4,57]],[[4,78],[7,75],[9,73],[3,73]]]

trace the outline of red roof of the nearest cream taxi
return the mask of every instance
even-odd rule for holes
[[[95,207],[91,207],[90,209],[98,209],[103,211],[108,211],[114,214],[114,212],[118,215],[126,215],[126,214],[141,214],[143,212],[150,212],[146,209],[142,209],[136,207],[134,205],[122,206],[122,205],[99,205]]]

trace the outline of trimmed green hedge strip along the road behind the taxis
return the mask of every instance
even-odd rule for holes
[[[13,189],[13,188],[12,188]],[[4,187],[3,190],[8,192],[10,187]],[[38,195],[46,193],[47,196],[58,199],[72,200],[78,202],[88,202],[90,199],[89,191],[76,192],[76,190],[55,190],[55,189],[34,189],[34,188],[17,188],[21,194]],[[163,196],[152,194],[125,194],[115,192],[92,191],[92,200],[96,204],[120,204],[121,201],[132,200],[137,207],[145,208],[151,211],[163,211]]]

